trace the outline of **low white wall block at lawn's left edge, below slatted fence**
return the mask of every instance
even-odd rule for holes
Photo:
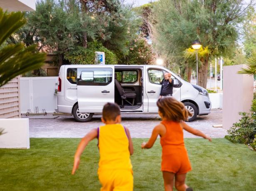
[[[0,148],[29,149],[29,119],[0,119]]]

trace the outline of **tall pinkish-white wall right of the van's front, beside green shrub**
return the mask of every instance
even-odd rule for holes
[[[239,112],[250,112],[253,100],[254,78],[238,74],[245,64],[224,66],[223,68],[223,128],[228,130],[239,122]]]

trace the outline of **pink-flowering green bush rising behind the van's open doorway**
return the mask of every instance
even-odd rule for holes
[[[152,45],[148,44],[143,34],[140,34],[129,44],[128,54],[119,56],[119,62],[121,64],[152,64],[155,57]]]

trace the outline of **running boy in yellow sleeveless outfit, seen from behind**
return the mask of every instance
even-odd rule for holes
[[[78,145],[72,174],[78,169],[80,155],[88,142],[98,138],[98,176],[102,185],[100,190],[132,191],[133,172],[130,155],[133,154],[133,144],[129,130],[120,124],[119,106],[114,103],[105,104],[101,120],[105,125],[91,130]]]

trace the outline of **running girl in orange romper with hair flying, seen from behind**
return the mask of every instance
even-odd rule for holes
[[[142,143],[142,149],[150,149],[160,135],[162,146],[161,170],[164,178],[165,191],[172,191],[174,186],[178,191],[192,191],[185,184],[186,173],[191,171],[189,157],[186,152],[183,139],[183,130],[194,135],[204,137],[211,141],[211,137],[195,130],[184,122],[189,115],[183,103],[172,97],[160,98],[157,101],[159,115],[162,122],[154,127],[152,135],[147,143]]]

